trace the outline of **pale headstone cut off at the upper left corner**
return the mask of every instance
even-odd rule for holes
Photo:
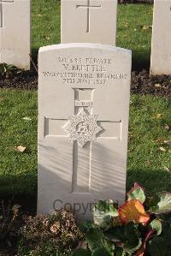
[[[30,0],[0,0],[0,63],[30,68]]]

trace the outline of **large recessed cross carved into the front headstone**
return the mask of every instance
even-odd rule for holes
[[[74,118],[75,116],[76,122],[75,122],[73,133],[69,135],[68,130],[65,129],[65,127],[68,126],[68,122],[69,122],[67,118],[53,119],[53,118],[45,117],[44,139],[46,138],[46,136],[53,136],[56,138],[68,137],[68,140],[70,140],[71,142],[74,142],[73,143],[73,182],[72,182],[71,192],[72,193],[79,193],[79,192],[88,193],[91,189],[91,152],[92,152],[92,142],[94,141],[94,139],[96,139],[94,137],[99,137],[104,140],[121,140],[121,120],[116,122],[97,120],[97,115],[93,115],[92,113],[94,90],[85,89],[85,96],[80,89],[74,89],[74,90],[75,90],[75,93],[74,93],[75,110],[74,110],[74,115],[71,115],[71,116],[72,118]],[[88,116],[90,115],[90,125],[89,124],[87,125],[87,123],[89,122],[81,122],[80,120],[81,110],[83,109],[84,109],[84,112],[82,112],[83,116],[84,114],[87,114]],[[77,119],[77,116],[79,116],[78,119]],[[71,118],[71,121],[73,121],[72,118]],[[96,123],[95,122],[92,123],[92,126],[94,126],[93,128],[95,129],[94,137],[90,136],[89,138],[91,138],[92,140],[88,140],[84,145],[81,145],[82,143],[81,140],[80,141],[75,140],[75,134],[80,133],[81,136],[84,137],[84,134],[87,133],[87,129],[90,129],[91,127],[91,118],[92,119],[95,118],[95,121],[97,120]],[[118,132],[116,132],[116,130]]]

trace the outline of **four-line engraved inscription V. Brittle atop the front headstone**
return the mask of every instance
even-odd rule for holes
[[[60,71],[44,70],[43,75],[66,85],[107,85],[109,80],[127,80],[128,77],[115,70],[109,71],[110,58],[56,57],[56,61],[61,64]]]

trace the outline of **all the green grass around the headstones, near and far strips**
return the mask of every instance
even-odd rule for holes
[[[150,63],[151,4],[119,5],[117,46],[133,50],[133,68]],[[60,3],[32,0],[32,56],[38,48],[60,42]],[[37,92],[0,91],[0,194],[36,194],[37,191]],[[137,181],[147,192],[171,191],[171,152],[164,140],[171,125],[168,98],[133,95],[127,189]],[[26,146],[25,152],[15,146]],[[159,150],[159,148],[163,148]]]

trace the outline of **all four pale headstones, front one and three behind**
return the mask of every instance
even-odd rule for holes
[[[171,73],[171,0],[155,1],[151,74]],[[132,53],[116,0],[62,0],[62,44],[38,53],[38,213],[125,199]],[[0,0],[0,61],[29,69],[30,1]]]

